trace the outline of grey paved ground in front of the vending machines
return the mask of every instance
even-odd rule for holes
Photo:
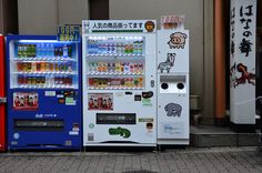
[[[248,147],[185,147],[163,152],[0,153],[1,173],[261,173],[262,153]]]

